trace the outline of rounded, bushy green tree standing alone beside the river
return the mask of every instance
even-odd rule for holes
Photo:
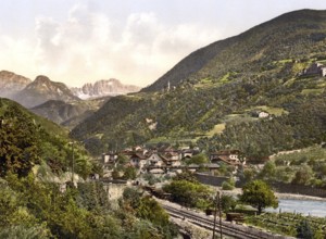
[[[278,201],[273,190],[262,180],[253,180],[247,184],[242,188],[240,201],[256,207],[259,214],[265,207],[273,206],[276,209],[278,206]]]

